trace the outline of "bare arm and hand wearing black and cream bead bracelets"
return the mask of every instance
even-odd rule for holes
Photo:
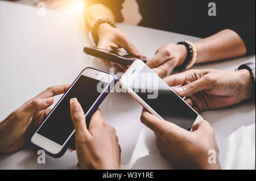
[[[194,43],[197,49],[196,63],[211,62],[243,56],[246,45],[240,35],[233,30],[222,30]],[[183,64],[187,57],[184,45],[167,43],[162,45],[147,65],[158,73],[159,77],[167,77],[176,66]]]

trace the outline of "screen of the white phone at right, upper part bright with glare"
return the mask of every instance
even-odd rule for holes
[[[130,88],[164,120],[181,128],[191,128],[197,118],[197,113],[147,66],[144,66]]]

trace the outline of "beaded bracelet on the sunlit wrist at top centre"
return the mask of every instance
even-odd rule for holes
[[[93,42],[97,45],[98,44],[98,34],[97,34],[97,30],[98,30],[98,26],[100,26],[100,24],[102,23],[108,23],[110,26],[115,27],[115,24],[108,18],[97,18],[96,20],[94,20],[92,22],[91,25],[91,31],[90,31],[90,36],[92,36]]]

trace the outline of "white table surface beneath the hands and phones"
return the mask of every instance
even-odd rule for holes
[[[71,83],[87,66],[109,70],[86,56],[90,45],[84,18],[51,10],[38,16],[36,7],[0,2],[0,120],[49,86]],[[118,24],[148,57],[167,42],[199,40],[197,37]],[[255,55],[196,65],[195,69],[234,70]],[[57,96],[55,103],[59,100]],[[129,95],[110,93],[100,106],[106,121],[116,130],[122,148],[122,169],[172,169],[155,146],[155,136],[139,117],[142,107]],[[201,113],[216,131],[222,169],[255,169],[255,103],[245,101],[222,110]],[[59,159],[46,156],[37,162],[29,148],[0,156],[0,169],[75,169],[76,153]]]

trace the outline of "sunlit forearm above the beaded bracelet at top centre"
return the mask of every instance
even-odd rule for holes
[[[100,17],[108,18],[112,22],[115,22],[113,12],[108,7],[101,4],[94,4],[84,9],[84,16],[89,26],[92,25],[94,20]]]

